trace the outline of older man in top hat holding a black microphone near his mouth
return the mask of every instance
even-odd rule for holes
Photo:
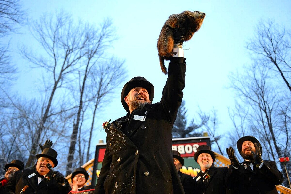
[[[24,193],[35,194],[67,194],[71,190],[67,179],[58,172],[50,171],[47,164],[56,167],[58,153],[52,148],[45,148],[41,154],[37,154],[36,167],[15,172],[14,176],[1,190],[1,194],[19,194],[27,185]]]

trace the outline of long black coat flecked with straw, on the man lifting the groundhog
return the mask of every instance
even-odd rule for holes
[[[95,194],[184,193],[173,162],[172,128],[182,102],[186,64],[183,58],[172,58],[180,62],[169,63],[161,101],[105,129],[107,145]],[[134,115],[146,118],[136,120]]]

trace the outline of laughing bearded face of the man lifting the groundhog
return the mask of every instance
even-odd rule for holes
[[[126,104],[129,107],[130,113],[138,108],[143,108],[146,104],[150,104],[148,90],[143,87],[132,88],[128,95],[124,97]]]

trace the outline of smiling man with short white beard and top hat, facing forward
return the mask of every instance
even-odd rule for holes
[[[194,178],[195,194],[230,193],[225,184],[228,168],[214,167],[215,154],[208,145],[200,145],[194,154],[194,159],[201,168],[201,171]]]

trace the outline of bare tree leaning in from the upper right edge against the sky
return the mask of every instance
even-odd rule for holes
[[[289,32],[289,33],[288,33]],[[291,33],[283,25],[274,21],[261,21],[255,37],[247,42],[247,49],[254,54],[260,64],[274,70],[280,75],[288,90],[291,92]]]

